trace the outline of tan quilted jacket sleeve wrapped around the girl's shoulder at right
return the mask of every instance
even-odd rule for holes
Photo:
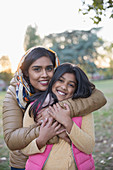
[[[67,99],[60,102],[60,105],[63,106],[64,103],[69,105],[71,117],[75,117],[85,116],[86,114],[100,109],[107,103],[107,100],[100,90],[94,89],[92,95],[88,98]]]

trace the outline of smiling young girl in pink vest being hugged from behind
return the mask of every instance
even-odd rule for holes
[[[49,128],[54,126],[55,132],[52,136],[55,135],[58,128],[55,125],[56,122],[52,123],[50,119],[44,121],[40,127],[39,137],[33,143],[37,149],[33,149],[33,145],[30,150],[30,145],[23,149],[24,154],[31,155],[27,161],[26,170],[41,170],[42,168],[44,170],[74,170],[76,166],[78,169],[84,170],[95,169],[91,155],[95,144],[93,115],[88,114],[71,119],[69,107],[66,106],[63,109],[57,103],[70,97],[72,99],[86,98],[91,95],[94,88],[95,86],[89,82],[87,76],[79,67],[66,63],[56,69],[47,91],[37,99],[37,96],[35,96],[34,99],[36,100],[31,105],[30,113],[33,113],[35,119],[40,109],[52,103],[53,108],[49,108],[48,114],[64,126],[71,140],[71,145],[61,138],[59,138],[57,144],[46,145],[51,138]],[[26,126],[26,120],[25,118],[24,126]]]

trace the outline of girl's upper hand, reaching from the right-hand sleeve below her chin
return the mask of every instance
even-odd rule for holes
[[[48,113],[59,123],[64,125],[67,132],[70,133],[73,126],[73,121],[70,117],[70,109],[68,105],[65,105],[65,109],[62,108],[58,103],[54,104],[53,107],[49,106]]]

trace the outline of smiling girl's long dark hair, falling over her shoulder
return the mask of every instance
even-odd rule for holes
[[[95,88],[95,85],[89,81],[84,71],[82,71],[78,66],[71,63],[61,64],[56,68],[54,75],[49,83],[48,89],[45,92],[42,92],[42,94],[36,93],[31,97],[31,102],[34,102],[30,107],[30,115],[32,111],[34,115],[34,120],[36,118],[36,114],[41,109],[48,94],[50,98],[53,97],[54,101],[58,102],[57,97],[52,92],[52,86],[65,73],[73,73],[77,81],[77,88],[72,96],[72,99],[77,99],[79,97],[87,98],[91,95],[92,90]]]

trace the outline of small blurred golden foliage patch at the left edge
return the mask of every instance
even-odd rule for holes
[[[11,73],[11,62],[8,56],[2,56],[0,58],[1,70],[7,73]]]

